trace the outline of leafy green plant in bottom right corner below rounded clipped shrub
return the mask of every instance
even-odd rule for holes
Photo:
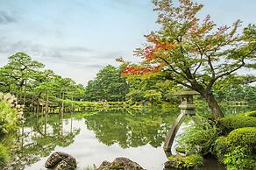
[[[224,165],[228,170],[253,170],[256,167],[256,155],[249,156],[247,148],[238,146],[224,155]]]

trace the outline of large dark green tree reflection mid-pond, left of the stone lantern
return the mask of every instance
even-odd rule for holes
[[[122,148],[162,145],[178,110],[108,111],[85,117],[85,124],[104,145]]]

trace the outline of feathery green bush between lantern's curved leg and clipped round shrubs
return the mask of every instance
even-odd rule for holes
[[[215,122],[204,117],[194,117],[192,126],[181,134],[178,143],[186,149],[186,153],[208,154],[213,151],[215,140],[218,137]]]

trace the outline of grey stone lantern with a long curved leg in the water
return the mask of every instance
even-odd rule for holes
[[[166,152],[167,157],[172,155],[171,148],[174,143],[174,138],[176,136],[177,131],[179,130],[181,123],[184,118],[188,116],[196,115],[196,106],[193,103],[193,96],[199,95],[196,91],[182,91],[175,93],[174,95],[181,96],[181,104],[179,108],[181,109],[181,114],[174,122],[171,130],[168,132],[165,144],[164,151]]]

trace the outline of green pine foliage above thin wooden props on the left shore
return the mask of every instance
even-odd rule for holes
[[[84,98],[81,84],[43,68],[42,63],[32,60],[26,53],[15,53],[4,67],[0,67],[0,91],[15,94],[18,103],[25,104],[26,111],[46,105],[46,98],[51,101],[47,101],[48,107],[60,107],[58,98],[77,101]]]

